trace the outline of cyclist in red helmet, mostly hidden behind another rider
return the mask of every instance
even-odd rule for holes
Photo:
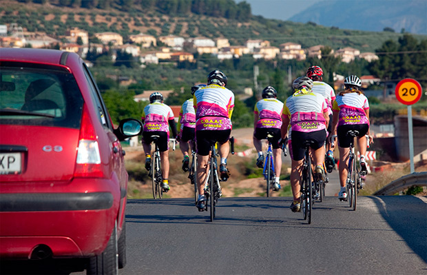
[[[323,82],[323,70],[319,66],[311,66],[307,69],[306,76],[313,80],[313,92],[315,94],[322,94],[328,103],[329,112],[329,124],[328,124],[328,135],[332,132],[332,102],[335,100],[335,91],[328,83]],[[331,150],[331,143],[329,139],[326,139],[326,157],[325,166],[327,172],[331,173],[333,167],[335,167],[335,161],[333,159],[333,152]]]

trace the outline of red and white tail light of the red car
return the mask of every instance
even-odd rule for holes
[[[86,105],[83,106],[79,147],[77,148],[74,176],[104,177],[97,136]]]

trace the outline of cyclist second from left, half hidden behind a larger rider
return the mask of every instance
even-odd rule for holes
[[[194,95],[196,90],[206,87],[205,84],[194,85],[191,87],[191,95]],[[181,106],[178,118],[178,141],[181,152],[183,152],[183,171],[189,170],[189,145],[194,147],[192,141],[196,134],[196,112],[194,111],[193,98],[186,100]]]

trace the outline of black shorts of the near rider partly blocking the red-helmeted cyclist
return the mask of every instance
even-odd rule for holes
[[[291,159],[294,161],[301,161],[304,159],[305,154],[305,145],[304,141],[313,141],[314,143],[310,145],[314,150],[319,149],[324,145],[326,141],[326,131],[319,130],[315,132],[298,132],[292,131],[291,133]]]

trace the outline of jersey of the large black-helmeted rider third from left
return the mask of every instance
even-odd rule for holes
[[[211,84],[194,93],[196,131],[231,130],[234,94],[220,85]]]

